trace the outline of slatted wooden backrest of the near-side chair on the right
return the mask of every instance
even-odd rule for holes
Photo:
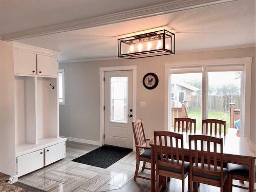
[[[217,176],[220,177],[221,182],[223,182],[223,139],[205,135],[189,135],[188,141],[190,172]],[[199,143],[200,145],[198,146]],[[217,169],[217,144],[219,145],[218,161],[221,165],[219,169]],[[192,146],[194,146],[194,148]],[[195,164],[193,164],[193,158],[195,158]],[[211,164],[212,159],[214,160],[214,164]],[[201,163],[201,167],[198,166],[198,163]]]

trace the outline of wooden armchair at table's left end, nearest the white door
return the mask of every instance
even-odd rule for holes
[[[146,139],[145,137],[142,119],[137,119],[133,121],[132,124],[133,124],[133,135],[134,135],[135,147],[136,147],[136,169],[134,174],[134,180],[136,180],[137,177],[146,179],[146,180],[151,180],[151,178],[138,175],[140,161],[143,161],[141,172],[144,172],[144,169],[151,169],[150,167],[146,167],[146,162],[151,163],[151,147],[148,146],[146,142],[146,141],[149,141],[150,139]],[[144,151],[140,153],[141,150],[144,150]]]

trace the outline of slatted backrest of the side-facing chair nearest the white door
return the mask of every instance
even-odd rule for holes
[[[133,135],[136,145],[147,146],[142,119],[133,121]]]

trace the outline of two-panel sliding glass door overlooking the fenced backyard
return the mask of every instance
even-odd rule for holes
[[[170,69],[169,130],[174,118],[197,120],[202,130],[202,119],[226,121],[227,130],[241,132],[241,85],[243,66],[202,66]]]

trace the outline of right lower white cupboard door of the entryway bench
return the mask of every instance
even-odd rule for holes
[[[45,148],[45,166],[66,157],[66,142]]]

